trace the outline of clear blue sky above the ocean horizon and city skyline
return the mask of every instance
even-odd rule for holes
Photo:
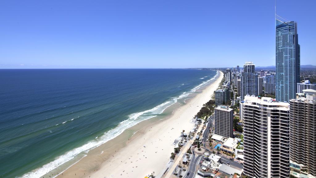
[[[0,2],[0,68],[275,65],[274,0]],[[316,1],[277,0],[316,65]]]

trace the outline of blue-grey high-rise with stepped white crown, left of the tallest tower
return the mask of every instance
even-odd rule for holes
[[[241,73],[240,98],[243,100],[246,95],[258,96],[258,75],[252,62],[246,62]]]

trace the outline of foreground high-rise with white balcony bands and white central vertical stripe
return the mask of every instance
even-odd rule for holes
[[[289,104],[245,96],[244,174],[256,178],[289,178]]]

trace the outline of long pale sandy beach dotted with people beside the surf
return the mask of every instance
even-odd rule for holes
[[[153,172],[162,175],[173,152],[173,142],[182,130],[189,133],[194,127],[193,116],[211,99],[221,82],[223,73],[202,92],[188,99],[166,119],[134,126],[134,133],[124,133],[90,150],[88,156],[72,165],[58,177],[145,177]],[[131,131],[130,131],[131,132]],[[126,141],[126,134],[130,135]],[[134,134],[133,136],[131,136]]]

